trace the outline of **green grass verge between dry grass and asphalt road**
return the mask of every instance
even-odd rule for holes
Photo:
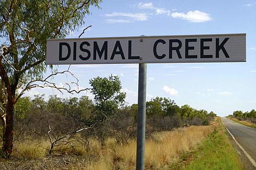
[[[194,159],[182,169],[244,169],[220,120],[215,132],[208,136],[193,155]]]

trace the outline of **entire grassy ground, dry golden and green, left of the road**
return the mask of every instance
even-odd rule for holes
[[[61,143],[49,155],[47,137],[15,141],[13,156],[0,162],[17,169],[135,169],[136,141],[104,139],[97,135],[76,134],[76,141]],[[77,140],[79,139],[79,140]],[[146,169],[242,169],[219,118],[208,126],[155,131],[146,138]]]

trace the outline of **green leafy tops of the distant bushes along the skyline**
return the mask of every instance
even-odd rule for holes
[[[57,97],[57,95],[50,95],[48,101],[44,99],[44,96],[45,95],[42,94],[35,95],[34,99],[31,99],[29,97],[20,98],[15,106],[15,115],[19,118],[24,118],[27,113],[33,112],[34,110],[45,110],[51,113],[61,113],[67,117],[73,117],[79,119],[81,122],[86,123],[86,121],[90,120],[90,117],[95,116],[94,114],[100,114],[97,105],[95,105],[88,96],[81,96],[81,98],[63,99]],[[125,110],[129,112],[131,116],[135,117],[136,120],[137,109],[137,104],[133,104],[131,106],[121,106],[114,111],[120,112],[122,110]],[[242,111],[236,111],[236,113],[237,112],[242,113]],[[254,110],[252,110],[250,113],[253,113],[255,116]],[[245,112],[242,114],[249,116],[251,115],[250,113]],[[108,118],[111,118],[113,116],[114,114]],[[204,125],[208,125],[208,121],[212,117],[215,117],[216,114],[212,111],[208,112],[206,110],[197,110],[191,108],[188,105],[183,105],[179,107],[173,100],[170,100],[168,98],[156,97],[151,99],[151,101],[146,102],[146,116],[177,116],[180,119],[188,120],[191,120],[193,118],[200,118],[204,120]]]

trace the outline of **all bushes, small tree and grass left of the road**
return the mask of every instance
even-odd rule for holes
[[[88,96],[20,98],[15,104],[12,156],[0,161],[1,169],[134,169],[137,104],[125,104],[118,77],[97,77],[90,84],[94,101]],[[239,164],[217,119],[214,112],[180,107],[168,98],[146,102],[146,169],[190,168],[207,142],[212,152]],[[218,158],[215,161],[223,161]]]

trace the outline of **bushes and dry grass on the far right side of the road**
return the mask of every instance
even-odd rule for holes
[[[256,128],[256,110],[254,109],[249,112],[234,111],[232,115],[228,115],[228,118],[239,124]]]

